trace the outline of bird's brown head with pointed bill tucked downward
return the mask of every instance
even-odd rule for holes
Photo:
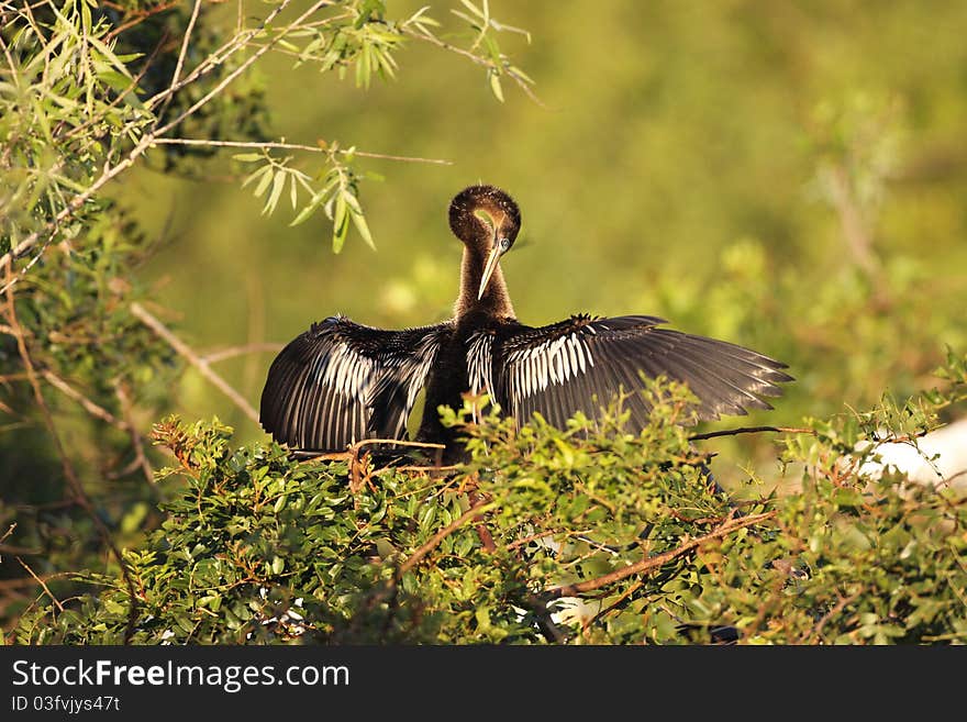
[[[470,186],[451,201],[449,227],[471,252],[486,257],[477,298],[500,257],[511,249],[521,229],[521,211],[513,198],[494,186]]]

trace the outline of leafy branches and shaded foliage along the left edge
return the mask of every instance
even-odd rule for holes
[[[354,166],[371,154],[338,141],[267,140],[257,64],[296,56],[337,75],[355,65],[368,87],[376,75],[393,77],[394,54],[418,40],[485,68],[496,62],[437,38],[425,10],[400,20],[373,0],[231,10],[0,5],[0,534],[14,555],[0,547],[0,580],[13,590],[0,596],[4,622],[33,604],[21,589],[34,575],[64,598],[86,589],[77,569],[131,582],[120,547],[164,520],[153,473],[160,457],[146,429],[173,407],[186,366],[209,368],[167,329],[158,287],[140,276],[165,238],[145,231],[143,199],[116,181],[136,167],[203,177],[231,164],[231,151],[236,169],[259,163],[241,186],[253,186],[265,214],[285,192],[296,224],[324,210],[333,251],[351,229],[375,248],[359,186],[378,176]],[[289,155],[276,157],[280,149]]]

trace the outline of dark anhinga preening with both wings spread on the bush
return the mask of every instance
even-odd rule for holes
[[[620,389],[632,431],[649,406],[640,373],[682,381],[698,418],[770,409],[792,380],[786,365],[723,341],[658,327],[651,315],[573,315],[546,326],[520,323],[500,270],[516,238],[516,203],[493,186],[471,186],[449,206],[449,226],[464,243],[454,318],[436,325],[387,331],[334,315],[290,342],[273,362],[262,393],[262,425],[297,451],[345,451],[363,438],[407,437],[418,393],[426,401],[418,441],[446,445],[458,458],[456,430],[437,408],[460,408],[462,395],[486,392],[519,422],[540,412],[564,427],[577,411],[599,414]]]

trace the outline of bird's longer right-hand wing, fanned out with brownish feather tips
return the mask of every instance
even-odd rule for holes
[[[700,401],[701,420],[771,409],[759,397],[779,396],[777,384],[792,380],[780,370],[786,364],[724,341],[659,329],[664,322],[575,315],[541,327],[509,324],[478,332],[468,342],[471,390],[489,391],[519,422],[538,411],[560,427],[579,410],[596,418],[624,390],[632,392],[625,409],[640,430],[651,411],[638,392],[640,374],[687,384]]]

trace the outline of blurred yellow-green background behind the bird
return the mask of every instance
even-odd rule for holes
[[[402,18],[421,4],[388,7]],[[431,14],[457,30],[448,7]],[[498,102],[481,68],[429,45],[404,48],[398,79],[368,90],[287,56],[259,66],[273,137],[453,163],[359,159],[385,177],[360,189],[378,252],[351,231],[334,255],[322,213],[296,227],[285,204],[260,215],[229,153],[201,180],[126,177],[120,197],[164,240],[140,273],[186,341],[284,343],[336,312],[384,327],[447,318],[460,255],[447,204],[485,181],[522,209],[502,264],[521,321],[656,314],[789,363],[797,382],[775,411],[724,425],[902,398],[934,384],[945,344],[964,348],[967,3],[494,0],[491,12],[530,31],[501,47],[543,104],[507,81]],[[216,369],[257,408],[271,357]],[[173,399],[240,441],[264,437],[193,370]],[[716,442],[720,473],[770,443]]]

